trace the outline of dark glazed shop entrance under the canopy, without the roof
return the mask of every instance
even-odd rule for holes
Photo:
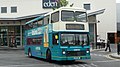
[[[20,26],[0,26],[0,45],[20,46]]]

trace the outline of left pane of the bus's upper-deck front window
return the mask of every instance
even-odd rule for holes
[[[62,21],[74,21],[74,12],[63,10],[61,14]]]

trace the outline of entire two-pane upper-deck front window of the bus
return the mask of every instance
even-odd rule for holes
[[[86,12],[81,11],[67,11],[63,10],[61,12],[61,20],[62,21],[77,21],[77,22],[86,22],[87,14]]]

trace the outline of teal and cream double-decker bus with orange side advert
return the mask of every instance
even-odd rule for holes
[[[62,7],[26,22],[25,54],[47,60],[90,59],[89,27],[84,9]]]

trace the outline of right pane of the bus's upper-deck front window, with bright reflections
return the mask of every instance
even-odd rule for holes
[[[77,22],[86,22],[87,21],[87,14],[85,12],[75,12],[75,19]]]

